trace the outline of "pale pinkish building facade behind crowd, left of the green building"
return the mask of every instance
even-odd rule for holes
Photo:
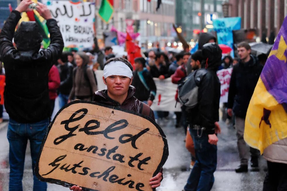
[[[114,1],[114,14],[109,23],[105,23],[97,15],[101,0],[96,0],[96,37],[99,44],[103,42],[103,32],[114,26],[118,31],[126,31],[126,19],[134,20],[134,32],[140,33],[139,43],[147,48],[148,44],[160,43],[163,47],[173,42],[176,36],[172,32],[175,23],[175,0],[162,0],[156,11],[157,0],[119,0]]]

